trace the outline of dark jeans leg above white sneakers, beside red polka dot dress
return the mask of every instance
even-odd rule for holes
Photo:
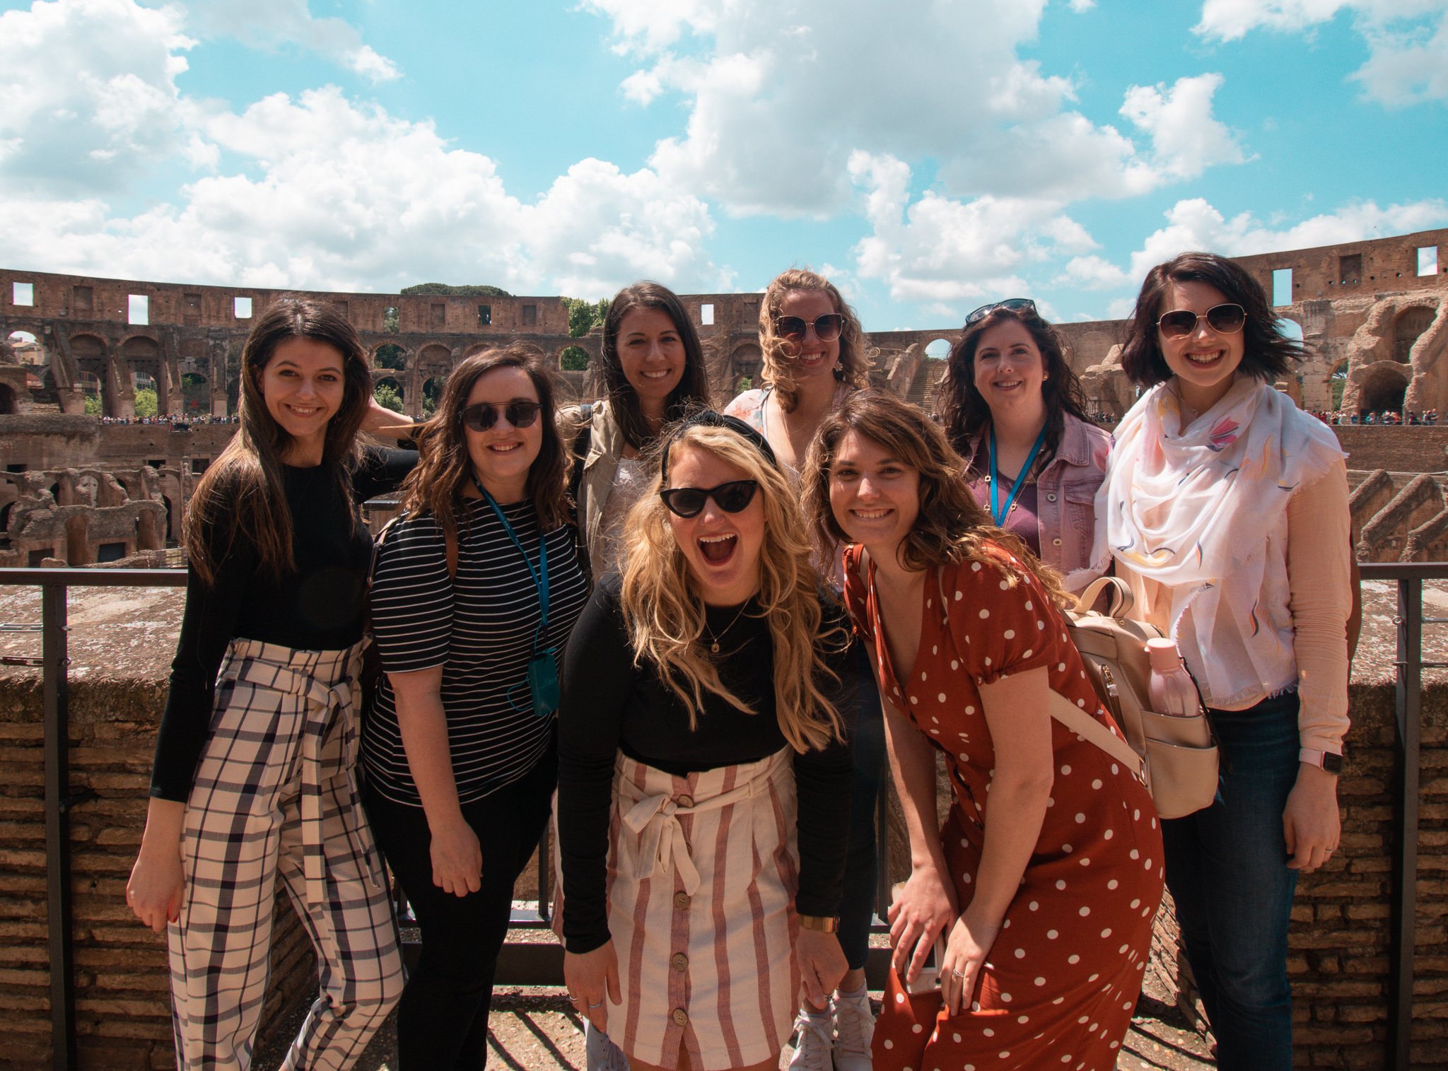
[[[870,954],[875,919],[875,809],[885,770],[885,716],[870,672],[870,653],[856,638],[850,648],[850,676],[844,693],[853,696],[840,711],[850,731],[854,777],[850,783],[850,851],[844,861],[844,894],[840,897],[840,948],[851,971],[864,967]]]

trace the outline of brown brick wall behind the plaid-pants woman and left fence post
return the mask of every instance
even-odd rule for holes
[[[83,1071],[175,1067],[165,938],[125,903],[140,844],[164,685],[71,683],[71,783],[98,799],[72,812],[75,1016]],[[51,1061],[45,886],[45,760],[33,673],[0,676],[0,1067]],[[316,980],[311,945],[285,896],[262,1030]]]

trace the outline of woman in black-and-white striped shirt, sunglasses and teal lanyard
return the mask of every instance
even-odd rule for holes
[[[453,369],[384,531],[372,627],[385,679],[362,741],[372,829],[421,955],[398,1007],[404,1071],[482,1068],[513,884],[557,782],[557,661],[588,596],[542,357]]]

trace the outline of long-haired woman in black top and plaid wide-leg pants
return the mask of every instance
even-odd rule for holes
[[[278,880],[321,980],[288,1068],[350,1067],[401,990],[353,777],[372,557],[358,504],[417,460],[356,437],[398,421],[372,401],[362,343],[330,304],[281,298],[258,317],[240,427],[187,517],[185,612],[126,884],[136,916],[168,929],[182,1068],[246,1065]]]

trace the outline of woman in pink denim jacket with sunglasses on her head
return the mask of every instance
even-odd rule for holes
[[[1111,564],[1105,549],[1092,554],[1111,436],[1086,415],[1064,350],[1030,298],[982,305],[950,350],[935,410],[990,520],[1079,592]]]

